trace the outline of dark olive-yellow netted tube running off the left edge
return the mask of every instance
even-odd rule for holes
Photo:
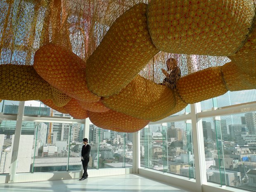
[[[5,100],[26,101],[53,98],[50,84],[36,73],[33,66],[0,65],[0,85],[0,98]]]

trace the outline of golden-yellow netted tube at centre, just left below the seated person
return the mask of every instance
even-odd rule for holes
[[[110,109],[140,119],[156,119],[175,106],[173,91],[137,75],[118,95],[102,101]]]

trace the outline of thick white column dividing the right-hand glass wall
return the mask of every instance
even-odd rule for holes
[[[204,154],[204,135],[202,120],[197,119],[197,112],[201,112],[201,104],[191,104],[191,122],[192,122],[192,137],[194,148],[194,166],[197,189],[195,191],[202,191],[202,184],[207,183],[205,154]]]

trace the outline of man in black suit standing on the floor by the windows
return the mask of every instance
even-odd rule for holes
[[[84,138],[83,139],[83,147],[82,147],[82,151],[81,151],[81,161],[83,164],[83,176],[81,179],[79,180],[85,180],[88,178],[88,173],[87,173],[87,168],[88,168],[88,163],[90,160],[90,150],[91,150],[91,146],[88,144],[88,139]]]

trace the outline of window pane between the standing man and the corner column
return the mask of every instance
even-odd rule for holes
[[[90,124],[89,144],[90,169],[133,166],[132,133],[119,133]]]

